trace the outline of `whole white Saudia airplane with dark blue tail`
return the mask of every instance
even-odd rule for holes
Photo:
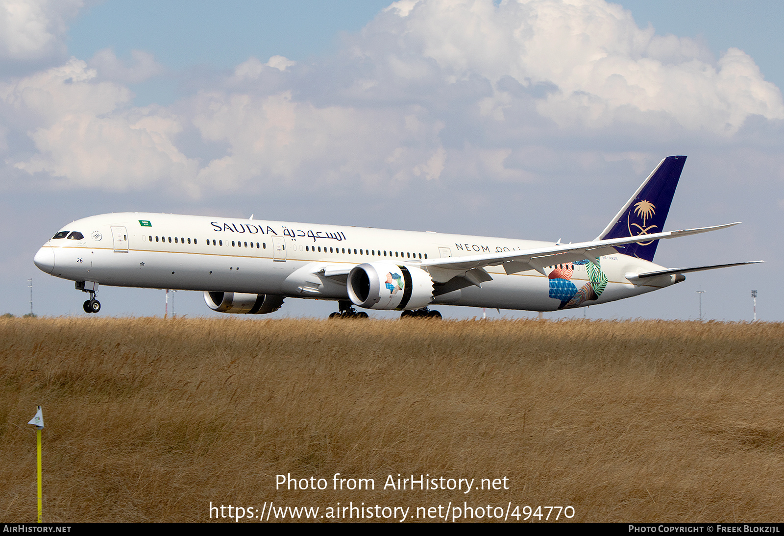
[[[659,240],[740,222],[663,231],[685,156],[664,158],[593,240],[575,244],[275,222],[122,212],[78,219],[38,250],[35,266],[75,281],[86,313],[100,311],[99,285],[204,293],[221,313],[265,314],[286,298],[338,304],[330,317],[441,318],[434,305],[556,311],[669,287],[684,273],[761,263],[666,268]]]

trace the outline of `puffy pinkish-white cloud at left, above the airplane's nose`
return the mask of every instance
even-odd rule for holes
[[[129,108],[130,98],[129,89],[96,81],[96,71],[76,59],[0,85],[5,115],[27,126],[37,150],[14,166],[79,188],[189,185],[196,163],[172,143],[180,119],[158,107]]]

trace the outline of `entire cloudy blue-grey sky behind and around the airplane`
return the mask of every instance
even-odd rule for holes
[[[686,154],[666,227],[743,225],[666,241],[655,261],[767,263],[586,315],[695,318],[704,290],[706,318],[750,320],[757,289],[758,316],[782,321],[765,286],[784,260],[782,22],[779,2],[730,0],[4,0],[0,313],[29,311],[33,277],[36,313],[83,314],[32,257],[87,215],[584,241]],[[101,314],[163,310],[162,291],[99,297]],[[175,302],[209,313],[195,292]],[[332,310],[289,299],[274,316]]]

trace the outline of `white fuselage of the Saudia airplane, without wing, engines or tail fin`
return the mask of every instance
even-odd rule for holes
[[[273,222],[195,215],[118,213],[78,219],[62,231],[82,239],[53,238],[35,258],[42,270],[71,281],[118,287],[171,288],[210,292],[348,299],[345,281],[319,270],[360,263],[419,266],[426,259],[506,252],[550,242],[474,237],[352,226]],[[598,299],[610,302],[673,284],[670,276],[633,284],[629,273],[662,267],[626,255],[604,255],[608,284]],[[51,268],[51,270],[49,270]],[[426,267],[423,267],[426,270]],[[550,273],[554,268],[545,267]],[[572,266],[577,288],[589,281],[586,266]],[[432,271],[432,270],[431,270]],[[507,274],[488,266],[492,281],[437,295],[433,303],[550,311],[550,281],[535,270]]]

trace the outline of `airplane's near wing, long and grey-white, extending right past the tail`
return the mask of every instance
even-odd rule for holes
[[[571,263],[583,259],[588,259],[590,262],[596,263],[595,259],[601,255],[614,255],[617,253],[617,250],[613,247],[615,245],[686,237],[690,234],[726,229],[727,227],[738,225],[739,223],[740,222],[725,223],[724,225],[700,227],[698,229],[673,230],[663,233],[637,235],[634,237],[579,242],[577,244],[554,244],[545,248],[486,253],[484,255],[463,255],[445,259],[427,259],[426,261],[423,261],[420,266],[426,266],[431,270],[431,273],[432,269],[448,270],[448,272],[453,275],[456,272],[465,272],[464,277],[478,286],[481,281],[490,281],[490,279],[492,279],[485,270],[482,270],[485,266],[502,265],[504,270],[506,270],[506,273],[537,270],[539,273],[544,274],[544,266],[552,266],[558,263]],[[444,275],[447,274],[445,273]],[[474,279],[477,279],[478,281],[474,281]]]

